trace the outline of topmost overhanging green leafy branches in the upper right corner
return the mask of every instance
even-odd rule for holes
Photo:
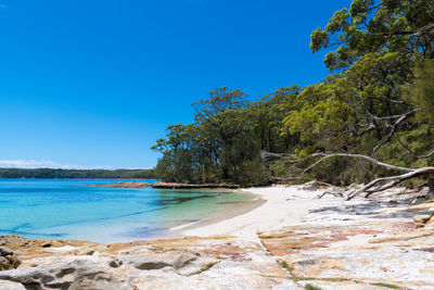
[[[354,0],[349,11],[334,13],[326,28],[317,28],[310,36],[314,52],[339,47],[326,56],[330,70],[349,67],[366,53],[386,49],[391,52],[420,51],[432,56],[433,1]]]

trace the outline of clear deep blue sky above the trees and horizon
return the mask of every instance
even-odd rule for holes
[[[310,31],[349,2],[0,0],[0,166],[153,167],[207,91],[322,79]]]

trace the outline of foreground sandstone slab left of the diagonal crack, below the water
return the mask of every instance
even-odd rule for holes
[[[0,239],[1,241],[1,239]],[[299,289],[253,242],[232,237],[163,239],[114,244],[39,240],[26,244],[17,269],[0,272],[0,281],[39,289]],[[94,252],[89,255],[89,249]],[[0,287],[0,289],[2,289]],[[18,289],[18,288],[17,288]]]

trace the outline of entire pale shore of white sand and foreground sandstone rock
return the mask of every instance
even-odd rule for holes
[[[429,191],[395,188],[371,199],[317,199],[324,190],[243,189],[254,201],[246,205],[256,207],[240,214],[235,205],[233,215],[175,227],[180,238],[94,243],[0,236],[0,247],[11,249],[2,252],[21,261],[16,269],[0,272],[0,288],[50,288],[51,281],[77,289],[106,289],[107,282],[113,289],[434,288]],[[431,199],[409,203],[422,196]],[[16,267],[14,256],[7,255],[10,268]]]

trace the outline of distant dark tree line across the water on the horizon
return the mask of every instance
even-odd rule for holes
[[[159,177],[154,169],[0,168],[0,178],[158,179]]]

